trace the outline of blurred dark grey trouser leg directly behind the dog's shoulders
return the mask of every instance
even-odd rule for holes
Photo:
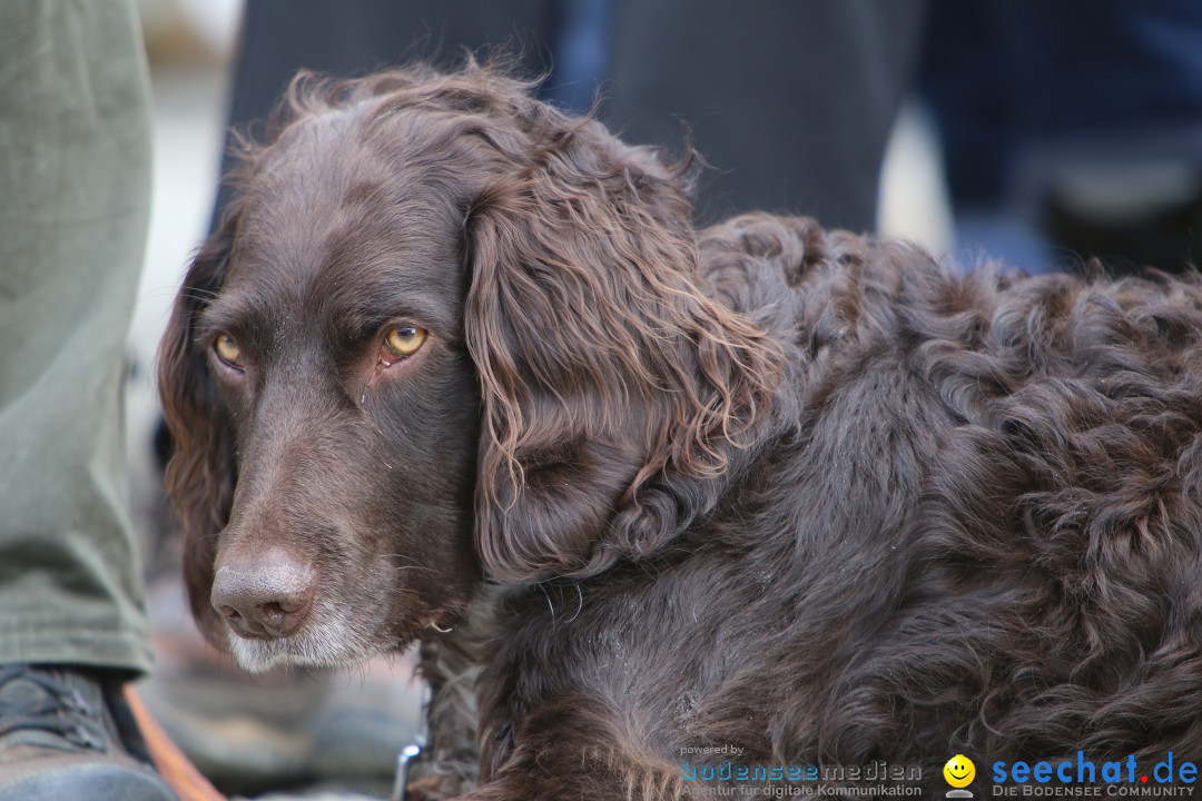
[[[605,116],[713,166],[703,220],[768,211],[870,231],[924,0],[617,4]]]

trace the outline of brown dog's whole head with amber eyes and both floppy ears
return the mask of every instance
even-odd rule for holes
[[[702,292],[680,171],[477,66],[287,108],[162,348],[203,628],[352,662],[712,508],[776,363]]]

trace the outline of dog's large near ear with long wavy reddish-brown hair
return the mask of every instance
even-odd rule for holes
[[[718,495],[779,351],[707,298],[683,169],[516,102],[513,169],[468,221],[465,336],[484,420],[477,538],[501,580],[655,551]]]

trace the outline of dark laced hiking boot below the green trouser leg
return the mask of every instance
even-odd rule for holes
[[[101,671],[0,665],[0,801],[177,801]]]

